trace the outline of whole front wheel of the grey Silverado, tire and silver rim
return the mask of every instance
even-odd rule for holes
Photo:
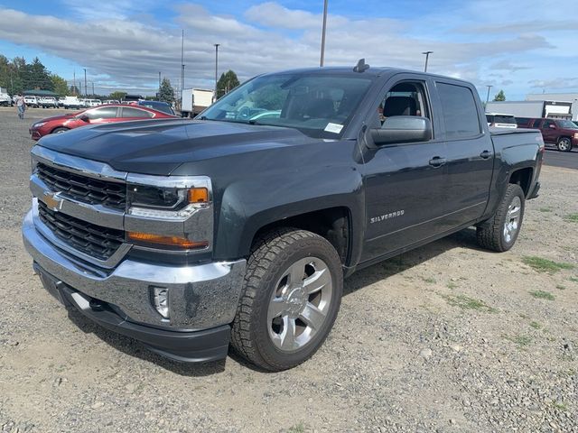
[[[342,292],[340,258],[327,240],[293,228],[270,232],[247,262],[231,343],[269,371],[302,364],[329,335]]]

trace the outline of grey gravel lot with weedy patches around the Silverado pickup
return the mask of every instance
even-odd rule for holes
[[[578,431],[578,170],[543,169],[508,253],[466,230],[353,275],[306,364],[187,366],[67,313],[33,274],[28,126],[52,113],[0,108],[0,431]]]

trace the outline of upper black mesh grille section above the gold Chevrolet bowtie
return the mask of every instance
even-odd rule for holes
[[[42,162],[36,166],[36,175],[53,191],[61,192],[72,199],[89,205],[125,210],[126,185],[124,183],[89,178]]]

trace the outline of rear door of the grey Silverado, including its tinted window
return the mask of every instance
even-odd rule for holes
[[[444,229],[481,217],[489,199],[494,148],[473,88],[460,81],[435,79],[446,145],[447,177]]]

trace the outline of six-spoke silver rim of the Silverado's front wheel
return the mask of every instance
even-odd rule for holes
[[[267,328],[275,347],[295,352],[312,341],[327,319],[333,281],[327,263],[306,257],[293,263],[275,284]]]

